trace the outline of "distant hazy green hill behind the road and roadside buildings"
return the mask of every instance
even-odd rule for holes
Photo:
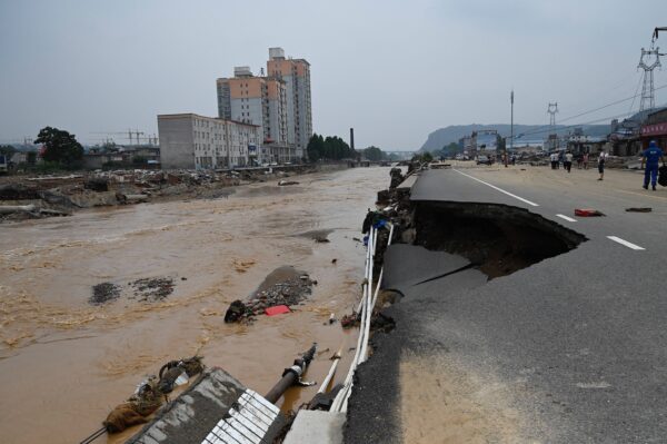
[[[559,136],[565,136],[568,132],[573,132],[571,126],[556,125],[554,127],[556,131],[549,129],[546,125],[515,125],[515,136],[524,134],[524,140],[539,140],[546,139],[551,132],[556,132]],[[584,134],[587,136],[601,137],[606,136],[610,131],[609,125],[581,125]],[[506,124],[499,125],[450,125],[446,128],[440,128],[428,135],[426,142],[419,148],[420,151],[434,151],[442,148],[451,142],[458,144],[459,139],[465,136],[470,136],[472,131],[479,131],[482,129],[495,129],[500,134],[501,137],[509,137],[510,126]],[[518,139],[519,141],[521,139]]]

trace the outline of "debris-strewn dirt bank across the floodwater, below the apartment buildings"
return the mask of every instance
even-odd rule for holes
[[[173,199],[227,197],[238,185],[340,169],[345,165],[295,165],[238,171],[122,170],[67,176],[0,178],[0,221],[69,216],[82,208]]]

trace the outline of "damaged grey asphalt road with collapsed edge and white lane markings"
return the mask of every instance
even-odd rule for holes
[[[356,373],[346,443],[664,442],[667,194],[542,171],[408,184],[414,231],[382,280],[402,298]]]

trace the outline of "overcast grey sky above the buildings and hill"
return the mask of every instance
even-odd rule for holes
[[[279,46],[311,63],[316,132],[417,149],[440,127],[509,122],[512,86],[519,124],[548,122],[549,101],[563,119],[633,96],[656,26],[665,0],[0,0],[0,142],[217,116],[216,78],[259,71]]]

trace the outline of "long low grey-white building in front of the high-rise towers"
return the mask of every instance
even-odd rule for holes
[[[159,115],[162,168],[245,167],[257,159],[262,131],[257,125],[196,114]]]

